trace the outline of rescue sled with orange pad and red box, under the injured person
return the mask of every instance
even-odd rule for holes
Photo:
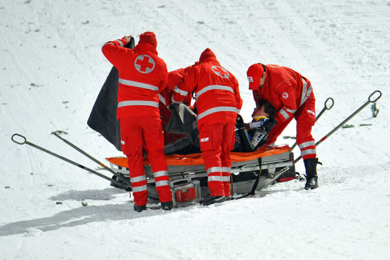
[[[201,153],[166,155],[174,206],[196,204],[210,192]],[[111,169],[129,180],[127,158],[106,158]],[[287,145],[262,146],[251,153],[232,152],[231,193],[247,194],[295,178],[294,154]],[[150,162],[144,157],[148,197],[158,200]],[[115,178],[115,176],[113,177]],[[117,181],[120,181],[116,179]],[[113,185],[115,186],[115,185]]]

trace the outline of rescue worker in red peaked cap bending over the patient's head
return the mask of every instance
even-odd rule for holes
[[[266,145],[275,142],[288,123],[295,118],[297,144],[306,168],[305,189],[317,188],[318,158],[311,135],[311,128],[315,123],[315,98],[310,81],[298,72],[279,65],[253,64],[246,74],[254,100],[257,102],[266,99],[278,111],[275,119],[264,125],[264,128],[270,131]]]

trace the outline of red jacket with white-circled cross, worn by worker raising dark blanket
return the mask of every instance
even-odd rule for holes
[[[119,71],[117,117],[159,117],[158,92],[168,85],[167,65],[152,44],[139,43],[133,50],[124,45],[122,38],[102,47],[107,60]]]

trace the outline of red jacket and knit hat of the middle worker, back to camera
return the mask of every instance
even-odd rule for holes
[[[210,49],[206,51],[207,56],[201,59],[201,64],[187,70],[172,98],[181,102],[189,92],[195,95],[198,125],[235,121],[242,107],[238,81],[221,67]]]

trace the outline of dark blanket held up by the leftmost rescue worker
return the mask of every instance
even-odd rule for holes
[[[133,49],[134,46],[134,38],[132,38],[125,47]],[[92,107],[87,125],[101,133],[118,151],[122,151],[120,148],[119,121],[116,117],[118,80],[118,70],[113,66]]]

